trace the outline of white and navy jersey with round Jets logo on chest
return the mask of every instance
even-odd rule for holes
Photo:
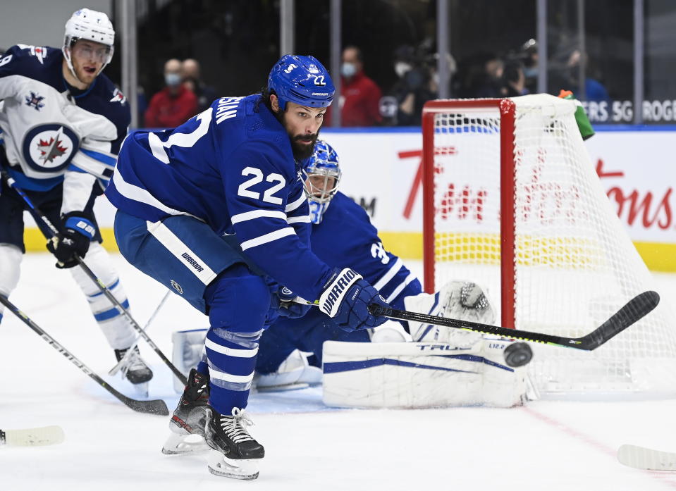
[[[60,49],[18,44],[0,58],[0,99],[1,136],[20,187],[51,189],[67,170],[103,184],[113,174],[131,113],[106,75],[75,89]]]

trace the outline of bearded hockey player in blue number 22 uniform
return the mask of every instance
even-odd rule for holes
[[[258,476],[264,449],[245,414],[258,340],[278,315],[309,309],[281,302],[283,292],[319,299],[343,328],[385,321],[369,313],[386,302],[361,275],[309,248],[300,161],[333,92],[319,61],[285,55],[261,94],[223,97],[176,129],[130,135],[106,189],[123,256],[209,316],[207,359],[191,371],[170,427],[204,434],[217,475]]]

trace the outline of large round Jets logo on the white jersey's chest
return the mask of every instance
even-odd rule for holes
[[[38,172],[58,172],[68,167],[80,139],[66,125],[38,125],[28,130],[21,149],[23,159],[30,168]]]

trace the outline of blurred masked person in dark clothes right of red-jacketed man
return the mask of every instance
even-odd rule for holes
[[[381,100],[382,116],[388,124],[415,126],[421,123],[422,106],[435,99],[438,80],[433,75],[434,56],[427,56],[413,46],[400,46],[394,54],[394,71],[398,80],[388,97]],[[389,100],[391,99],[391,100]]]

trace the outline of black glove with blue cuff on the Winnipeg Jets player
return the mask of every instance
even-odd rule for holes
[[[47,249],[56,256],[57,268],[72,268],[78,264],[75,255],[85,257],[87,254],[96,227],[90,216],[78,211],[67,213],[61,220],[64,231],[47,242]]]

